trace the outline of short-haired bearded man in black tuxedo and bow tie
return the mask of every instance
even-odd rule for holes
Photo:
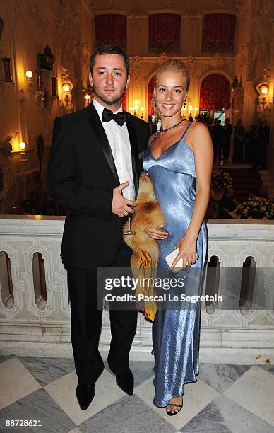
[[[87,108],[54,121],[49,154],[48,192],[66,207],[61,246],[71,299],[71,342],[81,409],[90,405],[104,369],[98,350],[102,310],[97,309],[96,268],[130,267],[131,250],[122,226],[133,212],[135,189],[148,144],[148,125],[124,112],[129,57],[118,47],[97,48],[90,58],[95,98]],[[123,191],[125,190],[125,191]],[[123,195],[123,192],[124,195]],[[108,354],[117,384],[133,393],[129,351],[136,333],[136,311],[109,311],[112,341]]]

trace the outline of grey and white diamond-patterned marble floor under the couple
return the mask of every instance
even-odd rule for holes
[[[82,411],[72,359],[0,357],[0,432],[274,433],[273,366],[200,364],[174,417],[153,406],[153,362],[131,362],[131,369],[133,396],[106,366]],[[42,427],[6,427],[5,420],[40,420]]]

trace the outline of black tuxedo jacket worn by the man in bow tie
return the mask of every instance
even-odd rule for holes
[[[148,124],[126,113],[133,181],[143,170]],[[112,214],[113,189],[120,185],[112,151],[93,103],[54,120],[47,169],[49,196],[66,207],[61,246],[64,265],[81,269],[114,262],[123,220]]]

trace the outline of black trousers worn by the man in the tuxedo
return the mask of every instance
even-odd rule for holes
[[[111,267],[130,267],[131,250],[119,244]],[[96,269],[67,268],[71,299],[71,342],[78,381],[94,384],[104,369],[98,350],[102,328],[102,310],[97,310]],[[114,374],[129,369],[129,352],[136,334],[137,311],[109,310],[112,340],[107,362]]]

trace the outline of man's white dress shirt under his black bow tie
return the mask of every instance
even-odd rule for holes
[[[93,98],[93,105],[97,111],[100,120],[102,122],[102,112],[104,107]],[[120,107],[117,112],[122,112],[123,108]],[[109,122],[102,122],[102,126],[105,129],[107,139],[109,141],[110,148],[112,149],[112,156],[114,159],[115,167],[119,177],[120,183],[129,180],[129,186],[123,190],[124,197],[129,200],[134,200],[135,187],[133,182],[132,173],[132,161],[131,161],[131,143],[129,141],[129,132],[126,127],[126,122],[124,125],[120,126],[115,122],[114,119]]]

